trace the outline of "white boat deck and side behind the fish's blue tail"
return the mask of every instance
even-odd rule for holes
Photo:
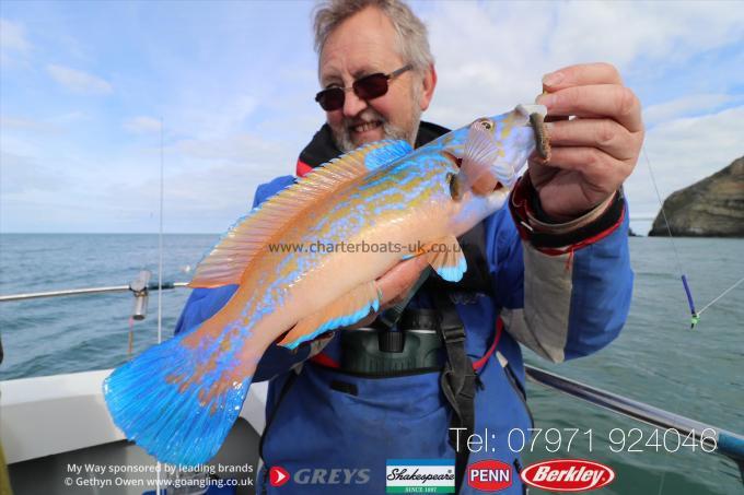
[[[112,479],[114,473],[97,476],[75,474],[70,465],[154,465],[156,461],[139,447],[126,441],[112,422],[102,392],[111,369],[48,377],[23,378],[0,382],[0,441],[9,464],[13,488],[24,493],[71,493],[66,480],[71,478],[72,493],[142,494],[139,487],[80,486],[78,480]],[[258,469],[257,443],[264,431],[266,382],[251,386],[241,416],[213,463],[253,467],[251,473],[233,478],[253,478]],[[111,470],[109,470],[111,471]],[[150,478],[154,478],[153,474]],[[120,478],[120,476],[119,476]],[[142,479],[140,473],[137,478]],[[148,476],[146,476],[148,478]],[[252,494],[253,487],[237,490]]]

